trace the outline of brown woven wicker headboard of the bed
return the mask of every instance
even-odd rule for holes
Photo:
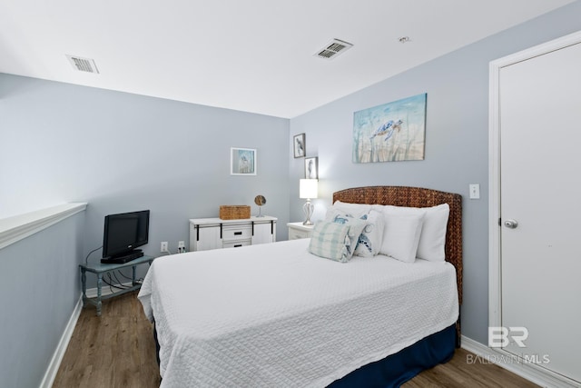
[[[392,204],[395,206],[430,207],[448,204],[448,231],[446,233],[446,261],[456,267],[458,302],[462,303],[462,196],[421,187],[367,186],[333,193],[335,201],[351,204]]]

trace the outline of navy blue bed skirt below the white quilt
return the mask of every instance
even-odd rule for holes
[[[330,383],[329,388],[399,387],[421,371],[432,368],[438,363],[447,363],[454,355],[455,349],[456,324],[452,324],[398,353],[361,366],[340,380]]]

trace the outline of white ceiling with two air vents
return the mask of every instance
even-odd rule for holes
[[[0,72],[291,118],[573,1],[2,0]]]

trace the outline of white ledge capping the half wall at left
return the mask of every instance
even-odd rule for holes
[[[0,219],[0,249],[83,212],[86,203],[59,204],[35,212]]]

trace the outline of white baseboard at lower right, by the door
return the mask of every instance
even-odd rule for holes
[[[475,353],[480,363],[495,363],[498,366],[505,368],[507,371],[518,374],[532,383],[536,383],[542,387],[550,388],[580,388],[581,384],[573,380],[567,379],[556,373],[552,373],[545,368],[539,367],[534,363],[521,363],[512,357],[507,352],[498,352],[482,343],[478,343],[468,337],[462,335],[462,348],[468,352]],[[467,360],[468,362],[468,360]]]

